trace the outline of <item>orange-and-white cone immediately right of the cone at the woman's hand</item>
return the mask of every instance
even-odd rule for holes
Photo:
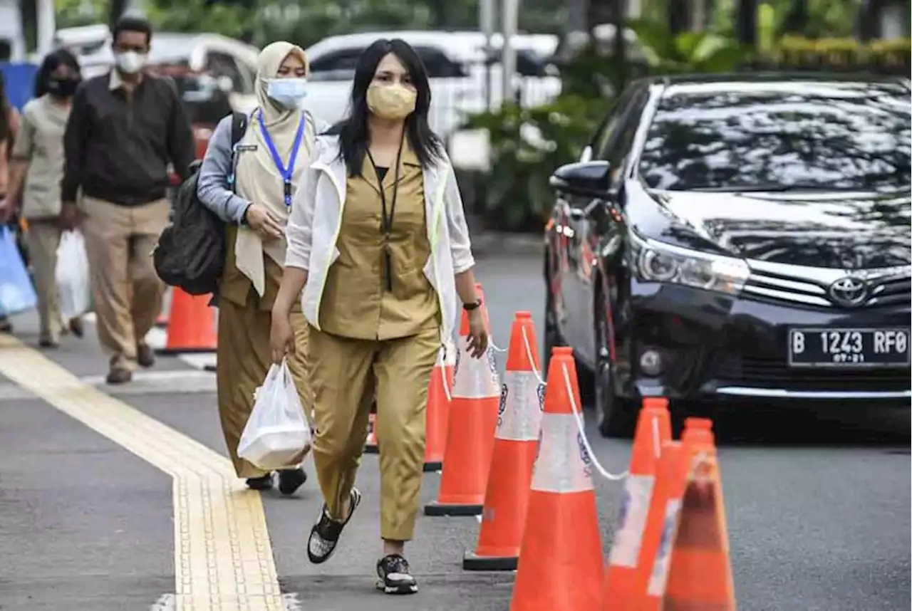
[[[467,571],[516,569],[544,405],[544,384],[535,373],[540,369],[537,345],[532,314],[517,312],[501,388],[482,530],[475,553],[462,560]]]

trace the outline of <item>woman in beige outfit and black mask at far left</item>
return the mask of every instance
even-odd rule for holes
[[[70,102],[81,81],[79,63],[66,49],[45,57],[38,68],[35,98],[23,109],[13,145],[9,189],[4,208],[17,208],[28,223],[26,243],[35,277],[41,347],[57,347],[61,323],[57,298],[57,247],[60,245],[60,180],[63,178],[63,134]],[[82,337],[81,318],[66,321]]]

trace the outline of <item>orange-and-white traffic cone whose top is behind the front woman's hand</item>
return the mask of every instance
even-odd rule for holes
[[[482,316],[487,319],[486,310]],[[469,316],[463,310],[440,492],[436,501],[424,506],[425,515],[482,514],[497,429],[500,376],[492,347],[487,357],[472,358],[468,335]]]

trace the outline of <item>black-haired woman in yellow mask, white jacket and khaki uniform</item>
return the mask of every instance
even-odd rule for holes
[[[311,326],[314,461],[325,504],[307,554],[325,562],[360,502],[354,487],[377,399],[378,588],[418,591],[404,557],[418,512],[431,369],[469,311],[474,357],[487,349],[474,259],[455,177],[428,126],[430,86],[401,40],[358,59],[351,114],[317,140],[286,228],[273,307],[273,360],[295,353],[291,313]],[[303,290],[303,295],[302,295]]]

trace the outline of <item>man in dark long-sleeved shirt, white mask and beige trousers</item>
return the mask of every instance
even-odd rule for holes
[[[73,98],[61,222],[82,226],[98,341],[110,354],[108,383],[122,384],[137,365],[155,361],[145,337],[161,312],[164,285],[151,252],[168,223],[169,161],[187,178],[195,147],[171,80],[143,73],[149,22],[123,17],[112,35],[115,68],[85,81]]]

